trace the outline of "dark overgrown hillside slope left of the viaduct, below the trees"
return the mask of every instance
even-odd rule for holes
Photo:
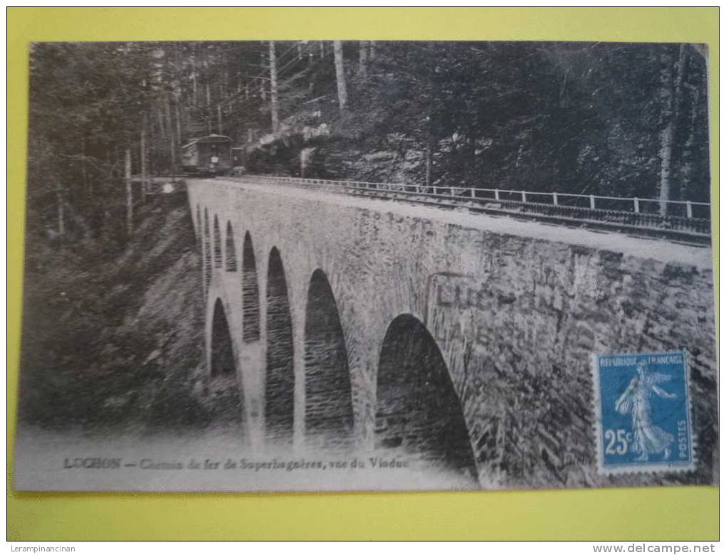
[[[29,244],[38,244],[29,242]],[[20,421],[205,427],[200,258],[186,197],[142,207],[123,252],[28,252]]]

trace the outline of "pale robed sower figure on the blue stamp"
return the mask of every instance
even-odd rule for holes
[[[671,456],[671,443],[675,438],[669,432],[653,424],[650,409],[650,395],[655,393],[664,399],[675,399],[677,395],[658,387],[658,383],[667,382],[671,377],[660,372],[651,372],[648,363],[640,360],[637,363],[637,376],[634,377],[627,390],[615,403],[615,410],[620,414],[630,413],[633,423],[633,451],[640,453],[636,461],[648,461],[649,455],[663,453],[663,460]]]

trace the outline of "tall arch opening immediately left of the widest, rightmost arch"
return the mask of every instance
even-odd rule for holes
[[[325,447],[347,447],[354,425],[348,353],[333,289],[319,269],[308,289],[304,360],[306,435]]]

